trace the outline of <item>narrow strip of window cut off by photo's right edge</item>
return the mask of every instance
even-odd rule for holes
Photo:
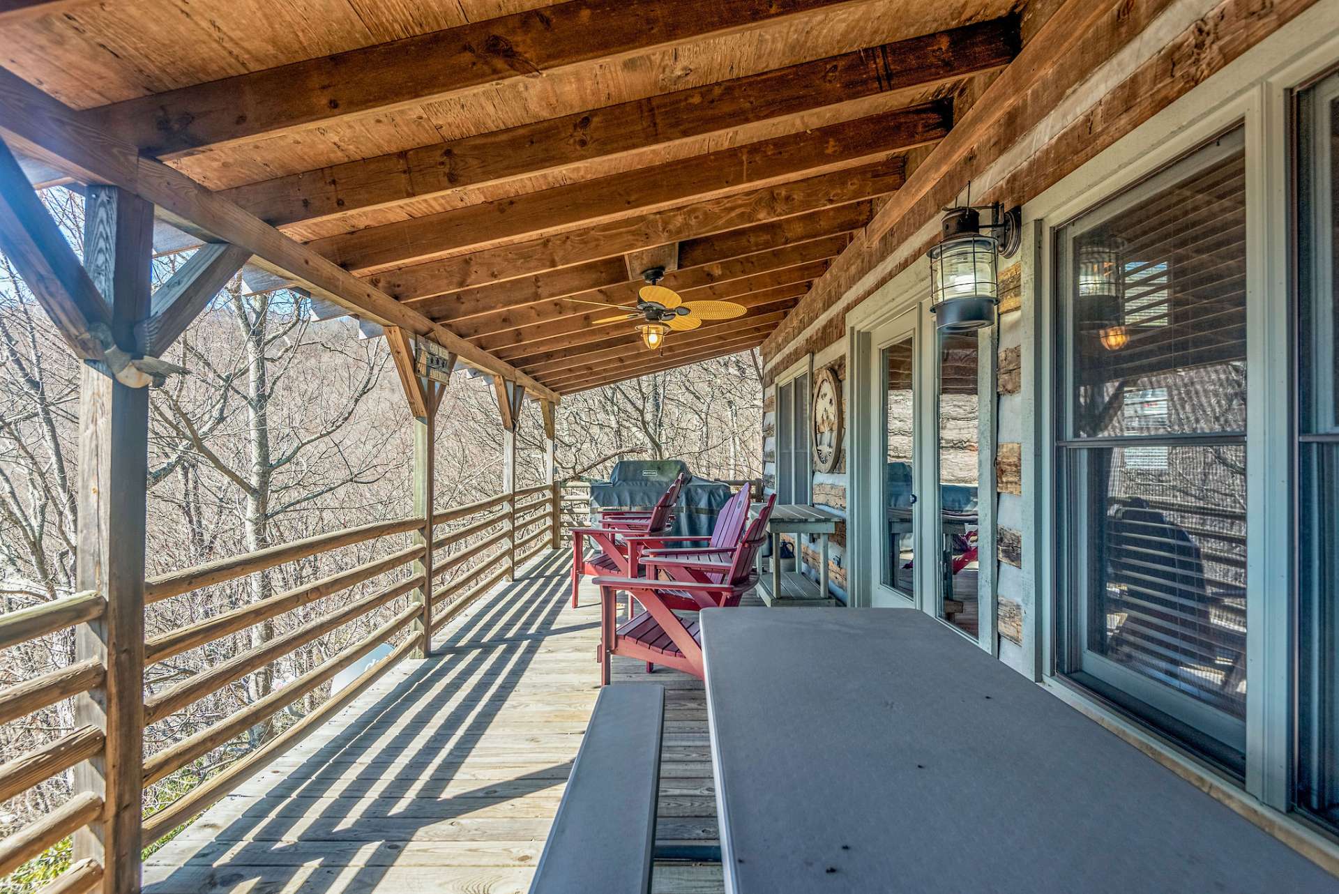
[[[1297,807],[1339,828],[1339,75],[1297,107]]]

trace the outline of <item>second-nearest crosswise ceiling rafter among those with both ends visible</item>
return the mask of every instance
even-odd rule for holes
[[[368,226],[308,245],[355,272],[430,261],[877,162],[894,151],[935,143],[951,126],[947,103],[925,103],[505,201]]]

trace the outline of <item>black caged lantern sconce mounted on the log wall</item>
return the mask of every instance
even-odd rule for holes
[[[991,213],[991,224],[981,224],[983,210]],[[936,327],[971,332],[992,325],[999,304],[998,258],[1018,253],[1022,210],[1004,211],[999,202],[945,209],[941,233],[929,250],[929,310]]]

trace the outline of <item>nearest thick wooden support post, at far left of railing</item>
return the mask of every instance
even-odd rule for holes
[[[150,309],[153,206],[114,186],[90,186],[84,266],[110,304],[112,339],[139,356],[135,324]],[[149,389],[84,367],[79,396],[78,586],[107,600],[75,632],[75,658],[106,665],[106,684],[75,699],[75,725],[106,735],[100,757],[75,767],[75,792],[103,799],[100,822],[75,834],[74,859],[103,866],[102,890],[141,883],[145,676],[145,478]]]

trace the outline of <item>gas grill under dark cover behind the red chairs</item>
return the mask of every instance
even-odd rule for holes
[[[608,482],[592,482],[590,511],[649,510],[675,476],[687,471],[688,466],[682,459],[625,459],[613,467]],[[711,537],[716,514],[730,501],[730,484],[694,476],[679,493],[671,533]]]

